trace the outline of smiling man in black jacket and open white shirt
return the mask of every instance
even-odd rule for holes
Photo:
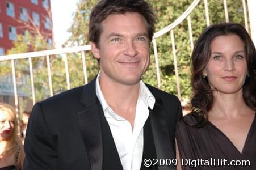
[[[149,5],[99,1],[89,27],[100,73],[86,86],[35,105],[24,169],[175,168],[143,163],[175,158],[175,125],[182,115],[177,97],[141,80],[154,32]]]

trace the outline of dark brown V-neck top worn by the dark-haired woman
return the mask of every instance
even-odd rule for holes
[[[196,119],[194,116],[185,116],[183,120],[178,122],[176,133],[181,165],[182,160],[183,165],[190,163],[190,166],[182,165],[182,169],[256,169],[255,119],[254,117],[244,148],[242,153],[240,153],[230,139],[211,122],[206,123],[200,128],[195,128],[186,123],[195,124]],[[244,166],[224,165],[224,162],[225,164],[230,164],[232,160],[238,160],[236,163],[243,163]],[[239,160],[249,160],[250,166],[245,166],[246,163],[248,164],[248,161],[241,162]],[[199,163],[201,166],[199,166]],[[198,166],[195,167],[195,164]]]

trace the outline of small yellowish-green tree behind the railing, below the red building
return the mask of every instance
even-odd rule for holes
[[[26,31],[24,35],[18,35],[16,41],[14,41],[13,47],[7,51],[7,54],[18,54],[18,53],[26,53],[31,51],[39,51],[52,48],[47,45],[47,43],[41,39],[40,36],[32,36],[31,33]],[[32,58],[32,65],[34,67],[34,75],[35,75],[35,87],[37,92],[37,99],[44,99],[44,90],[45,86],[43,82],[46,79],[44,75],[36,76],[40,72],[44,72],[41,69],[44,61],[40,58]],[[31,84],[30,84],[30,70],[28,66],[28,59],[15,59],[15,71],[16,71],[16,82],[19,89],[26,92],[28,96],[31,96]],[[3,61],[0,63],[0,76],[12,76],[11,70],[11,61]],[[27,80],[27,84],[19,83]],[[40,85],[40,86],[39,86]],[[20,96],[18,91],[18,96]],[[27,99],[26,97],[22,97],[19,100],[19,111],[20,115],[26,109]]]

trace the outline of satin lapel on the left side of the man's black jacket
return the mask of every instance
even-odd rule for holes
[[[101,170],[103,148],[98,106],[95,104],[79,112],[77,118],[83,143],[90,159],[91,170]]]

